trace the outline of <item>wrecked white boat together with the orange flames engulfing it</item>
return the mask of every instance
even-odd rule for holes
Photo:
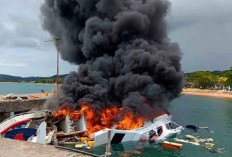
[[[57,119],[66,117],[66,120],[68,116],[76,121],[73,123],[77,125],[79,129],[77,131],[83,131],[82,136],[86,137],[84,141],[93,142],[94,147],[107,144],[108,142],[111,144],[139,140],[161,142],[180,134],[183,129],[182,126],[171,120],[172,116],[170,113],[162,113],[152,120],[146,120],[141,116],[136,117],[129,111],[121,114],[122,110],[115,107],[105,109],[99,117],[88,106],[83,105],[79,111],[71,110],[66,106],[61,110],[53,112],[53,116]],[[119,115],[122,118],[118,118]],[[120,120],[115,122],[116,119]],[[108,135],[109,132],[110,137]]]

